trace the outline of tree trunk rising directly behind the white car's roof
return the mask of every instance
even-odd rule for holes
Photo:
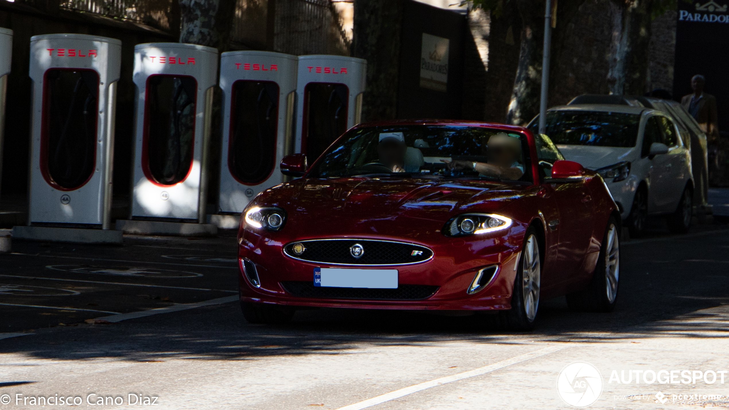
[[[648,73],[652,0],[612,0],[607,82],[615,95],[643,95]]]

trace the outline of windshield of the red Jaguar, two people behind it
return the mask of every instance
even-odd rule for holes
[[[486,127],[399,125],[351,130],[309,176],[435,176],[531,181],[526,135]]]

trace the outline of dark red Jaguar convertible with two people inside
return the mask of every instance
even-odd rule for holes
[[[464,121],[358,125],[258,195],[238,232],[241,307],[472,310],[515,330],[539,301],[609,312],[620,213],[602,178],[546,135]]]

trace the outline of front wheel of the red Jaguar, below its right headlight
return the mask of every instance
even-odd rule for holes
[[[542,280],[542,251],[534,226],[526,230],[518,266],[511,310],[499,312],[499,321],[512,331],[531,331],[537,323]]]

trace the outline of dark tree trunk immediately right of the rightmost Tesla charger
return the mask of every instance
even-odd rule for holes
[[[402,1],[354,2],[352,55],[367,60],[367,85],[362,101],[362,120],[397,116],[400,27]]]

